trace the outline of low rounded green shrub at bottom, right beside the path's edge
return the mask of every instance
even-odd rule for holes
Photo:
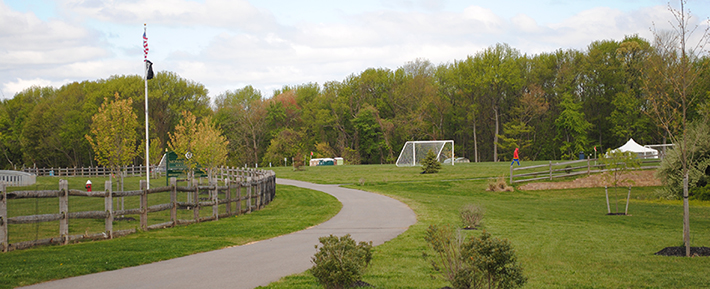
[[[310,272],[327,289],[349,288],[362,278],[372,260],[372,242],[355,243],[350,234],[318,238]]]

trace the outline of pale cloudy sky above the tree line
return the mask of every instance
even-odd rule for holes
[[[677,1],[670,3],[678,8]],[[368,68],[438,65],[496,43],[527,55],[584,51],[671,29],[657,0],[0,0],[0,99],[143,75],[143,30],[154,70],[199,82],[214,98],[247,85],[343,81]],[[688,0],[708,27],[710,0]]]

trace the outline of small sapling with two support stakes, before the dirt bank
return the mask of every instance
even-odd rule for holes
[[[614,187],[614,192],[616,192],[616,213],[619,213],[619,196],[618,196],[618,186],[621,184],[629,185],[629,194],[626,197],[626,212],[629,209],[629,199],[631,198],[631,184],[633,180],[629,177],[629,171],[637,169],[641,166],[641,161],[638,155],[634,152],[622,152],[619,149],[611,150],[607,149],[606,154],[601,159],[604,167],[609,170],[603,174],[604,191],[606,193],[606,208],[607,212],[611,214],[611,206],[609,205],[609,190],[608,186]]]

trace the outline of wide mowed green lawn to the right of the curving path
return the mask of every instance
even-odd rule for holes
[[[375,248],[363,280],[376,288],[450,285],[431,268],[433,251],[424,242],[424,233],[431,224],[458,224],[459,208],[467,203],[485,207],[484,229],[511,241],[529,278],[526,288],[710,287],[710,257],[654,255],[664,247],[682,244],[680,201],[654,199],[656,188],[633,188],[630,216],[607,216],[603,188],[485,191],[487,181],[480,178],[502,176],[508,170],[507,163],[479,163],[444,166],[435,175],[391,165],[276,171],[281,177],[351,184],[392,196],[416,212],[417,224]],[[360,179],[366,179],[362,186]],[[621,211],[626,192],[618,192]],[[614,210],[617,193],[610,194]],[[710,204],[691,202],[690,212],[692,246],[710,246]],[[320,287],[304,273],[267,288]]]

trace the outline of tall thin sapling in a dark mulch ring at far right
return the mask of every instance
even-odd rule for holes
[[[683,242],[685,253],[690,257],[690,207],[688,204],[688,174],[694,163],[687,137],[688,126],[692,121],[689,112],[697,105],[701,96],[693,90],[707,67],[707,61],[700,61],[707,55],[710,41],[710,27],[699,35],[693,36],[698,25],[692,26],[691,14],[685,10],[685,2],[680,1],[680,9],[668,5],[674,17],[670,24],[670,33],[653,30],[654,50],[649,57],[645,70],[644,88],[647,93],[647,112],[663,128],[680,154],[681,175],[683,176]],[[692,36],[692,37],[691,37]],[[694,44],[689,43],[696,39]]]

